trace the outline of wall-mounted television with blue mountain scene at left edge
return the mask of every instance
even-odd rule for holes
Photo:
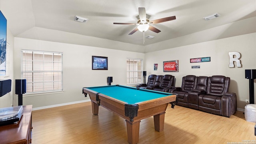
[[[0,11],[0,76],[6,75],[6,35],[7,20]]]

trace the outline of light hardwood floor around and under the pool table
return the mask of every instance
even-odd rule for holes
[[[142,120],[138,144],[256,144],[241,111],[226,118],[169,104],[164,122],[157,132],[153,117]],[[32,126],[32,144],[128,144],[125,120],[101,106],[93,115],[91,102],[34,110]]]

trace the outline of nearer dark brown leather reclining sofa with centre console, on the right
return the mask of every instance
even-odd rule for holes
[[[193,76],[182,78],[181,87],[172,87],[177,105],[230,117],[236,112],[236,94],[228,92],[230,78],[226,76]]]

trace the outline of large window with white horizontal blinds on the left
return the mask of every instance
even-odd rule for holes
[[[22,50],[21,76],[27,93],[63,90],[62,53]]]

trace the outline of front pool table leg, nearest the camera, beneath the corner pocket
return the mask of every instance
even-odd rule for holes
[[[137,122],[130,122],[126,121],[127,127],[127,135],[128,135],[128,142],[130,144],[137,144],[139,142],[139,132],[140,132],[140,121]]]

